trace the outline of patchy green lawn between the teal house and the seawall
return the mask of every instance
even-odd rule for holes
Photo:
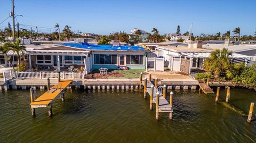
[[[108,77],[108,79],[135,79],[140,77],[140,73],[144,73],[145,70],[114,70],[113,72],[119,72],[124,75],[124,77]]]

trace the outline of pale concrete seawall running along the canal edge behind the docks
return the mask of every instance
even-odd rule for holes
[[[51,85],[58,83],[57,79],[50,79]],[[142,83],[143,84],[143,83]],[[198,81],[195,79],[160,79],[158,85],[166,85],[168,89],[196,89]],[[6,85],[0,86],[1,89],[27,89],[45,88],[46,79],[11,79]],[[84,89],[135,89],[139,86],[139,79],[84,79],[73,80],[73,86]]]

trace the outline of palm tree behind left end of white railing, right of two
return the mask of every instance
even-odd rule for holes
[[[18,64],[20,64],[21,57],[23,58],[26,52],[26,46],[20,46],[20,39],[18,39],[15,43],[7,45],[7,47],[9,47],[11,51],[16,52]],[[20,52],[22,54],[21,57]]]

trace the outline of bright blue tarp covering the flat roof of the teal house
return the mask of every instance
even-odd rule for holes
[[[65,43],[60,44],[63,46],[75,47],[75,48],[83,48],[83,49],[90,49],[90,50],[116,50],[116,51],[148,51],[143,47],[140,46],[112,46],[112,45],[94,45],[89,43]]]

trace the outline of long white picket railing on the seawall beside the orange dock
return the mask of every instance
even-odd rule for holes
[[[58,79],[58,72],[13,72],[15,78],[25,79]],[[81,72],[61,72],[61,79],[84,79]]]

